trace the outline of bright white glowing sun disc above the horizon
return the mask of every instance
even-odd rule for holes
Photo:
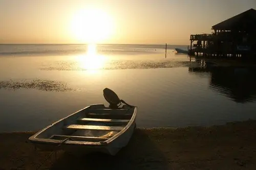
[[[112,34],[113,21],[102,10],[84,9],[73,16],[71,31],[79,42],[100,43]]]

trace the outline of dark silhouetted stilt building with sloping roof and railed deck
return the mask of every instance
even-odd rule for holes
[[[190,55],[214,57],[256,56],[256,10],[250,9],[212,26],[212,34],[190,35]],[[197,43],[193,44],[194,41]],[[193,48],[192,48],[193,47]]]

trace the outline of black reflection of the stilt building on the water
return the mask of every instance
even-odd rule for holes
[[[256,101],[256,68],[250,66],[218,66],[215,62],[197,60],[190,72],[210,74],[209,87],[234,102]]]

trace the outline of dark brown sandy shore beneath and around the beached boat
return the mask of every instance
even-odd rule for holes
[[[34,132],[0,134],[0,169],[35,169]],[[136,129],[115,157],[59,152],[40,169],[256,169],[256,121],[181,129]]]

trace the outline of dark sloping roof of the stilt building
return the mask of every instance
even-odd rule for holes
[[[248,30],[256,28],[256,10],[250,9],[212,26],[212,30]]]

